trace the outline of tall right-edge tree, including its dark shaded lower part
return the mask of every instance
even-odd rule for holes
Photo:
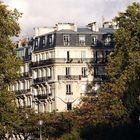
[[[107,72],[111,82],[104,90],[116,94],[126,107],[131,120],[138,123],[140,115],[140,4],[133,3],[115,18],[115,49]]]

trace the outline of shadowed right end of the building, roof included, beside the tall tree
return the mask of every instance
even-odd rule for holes
[[[103,28],[99,29],[98,36],[95,36],[95,43],[92,44],[94,50],[94,82],[107,81],[108,76],[105,72],[105,66],[108,62],[108,55],[114,47],[113,33],[115,27],[110,22],[105,22]]]

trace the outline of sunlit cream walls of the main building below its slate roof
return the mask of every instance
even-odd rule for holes
[[[65,57],[67,52],[70,55],[69,60]],[[85,55],[84,58],[81,57],[82,53]],[[89,62],[93,59],[92,49],[91,47],[56,47],[33,53],[32,61],[37,63],[36,57],[47,56],[47,54],[51,54],[50,57],[44,57],[42,61],[48,59],[54,61],[53,64],[32,68],[33,80],[48,77],[32,88],[36,101],[34,108],[41,112],[72,109],[84,95],[87,83],[93,80],[92,71],[88,68]],[[44,97],[46,95],[46,98],[36,98],[40,95]]]

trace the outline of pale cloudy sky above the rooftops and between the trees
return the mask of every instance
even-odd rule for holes
[[[20,19],[22,36],[31,36],[34,27],[54,26],[58,22],[72,22],[85,26],[101,23],[102,17],[111,20],[132,2],[140,0],[3,0],[11,9],[23,13]]]

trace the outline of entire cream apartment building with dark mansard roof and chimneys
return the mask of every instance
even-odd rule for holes
[[[12,86],[17,106],[36,112],[70,111],[87,96],[88,85],[107,80],[105,65],[113,49],[115,25],[85,27],[58,23],[34,28],[32,39],[17,43],[21,76]]]

